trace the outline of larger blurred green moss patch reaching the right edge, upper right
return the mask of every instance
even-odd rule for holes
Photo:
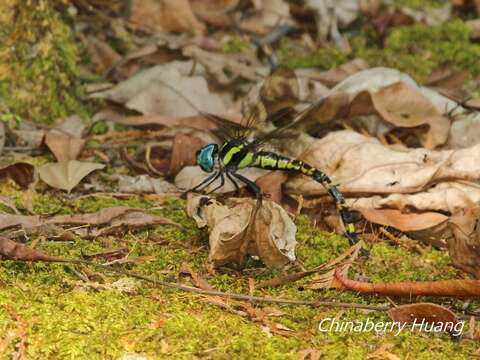
[[[393,29],[385,41],[385,48],[375,45],[373,33],[352,40],[356,56],[371,66],[398,69],[424,82],[433,70],[450,65],[465,69],[473,76],[480,74],[478,59],[480,45],[470,41],[470,28],[461,20],[439,26],[416,24]]]

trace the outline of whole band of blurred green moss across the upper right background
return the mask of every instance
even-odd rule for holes
[[[398,69],[420,83],[443,65],[455,70],[467,70],[472,76],[478,76],[480,45],[470,40],[470,33],[471,29],[458,19],[439,26],[401,26],[392,29],[384,46],[380,47],[376,32],[365,26],[360,34],[349,36],[352,46],[349,53],[336,48],[321,48],[312,52],[284,40],[279,48],[279,58],[287,67],[327,70],[360,57],[371,67]]]

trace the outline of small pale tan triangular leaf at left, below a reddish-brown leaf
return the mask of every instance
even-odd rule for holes
[[[104,167],[103,164],[69,160],[45,164],[38,169],[38,173],[40,179],[51,187],[70,192],[85,176]]]

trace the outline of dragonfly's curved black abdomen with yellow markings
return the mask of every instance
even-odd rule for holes
[[[302,160],[290,159],[286,156],[275,154],[270,151],[260,151],[256,153],[250,166],[269,170],[295,171],[310,176],[315,181],[322,184],[328,194],[335,201],[335,205],[345,228],[345,236],[348,238],[351,245],[358,242],[359,239],[354,225],[355,219],[345,202],[343,194],[332,184],[332,180],[330,180],[327,174]]]

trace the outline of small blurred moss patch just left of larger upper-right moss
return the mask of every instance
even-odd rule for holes
[[[295,43],[284,39],[280,42],[278,57],[282,66],[297,69],[318,67],[330,69],[349,60],[349,55],[335,48],[319,48],[315,51],[299,47]]]

